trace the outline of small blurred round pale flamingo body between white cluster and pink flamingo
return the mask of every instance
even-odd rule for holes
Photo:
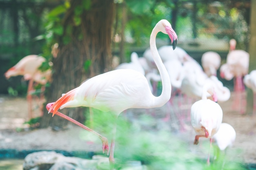
[[[202,58],[202,67],[204,72],[210,77],[211,75],[217,75],[217,70],[220,68],[221,58],[220,55],[214,51],[208,51],[203,53]]]

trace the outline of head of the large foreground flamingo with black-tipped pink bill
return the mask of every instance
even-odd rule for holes
[[[175,31],[173,30],[170,22],[168,22],[167,20],[160,20],[158,24],[162,25],[161,32],[169,35],[169,38],[171,39],[171,43],[173,45],[173,50],[174,50],[177,45],[178,37]]]

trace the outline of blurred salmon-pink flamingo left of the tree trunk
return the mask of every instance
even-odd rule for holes
[[[34,82],[45,85],[51,79],[52,71],[41,71],[38,68],[45,62],[45,58],[38,55],[27,55],[23,57],[15,66],[9,68],[4,76],[9,79],[12,76],[23,75],[25,80],[29,80],[27,89],[27,100],[29,105],[29,119],[33,117],[32,114],[32,96]],[[41,88],[44,91],[44,87]],[[41,99],[43,96],[41,96]],[[42,110],[42,109],[41,109]],[[42,114],[42,113],[41,113]]]

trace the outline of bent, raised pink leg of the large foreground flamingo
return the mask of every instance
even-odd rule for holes
[[[48,103],[46,105],[46,109],[49,111],[49,109],[52,107],[54,103]],[[51,110],[51,113],[53,112],[53,110]],[[88,128],[87,126],[84,126],[83,124],[79,123],[78,121],[72,119],[71,117],[68,117],[67,115],[64,115],[63,113],[60,113],[60,112],[56,112],[55,113],[56,115],[68,120],[68,121],[71,121],[72,123],[80,126],[81,128],[93,133],[94,135],[96,135],[97,137],[99,137],[99,139],[101,139],[101,142],[102,142],[102,150],[103,150],[103,153],[106,152],[106,154],[108,155],[108,150],[109,150],[109,147],[108,147],[108,139],[106,137],[103,137],[102,135],[100,135],[99,133],[95,132],[94,130]]]

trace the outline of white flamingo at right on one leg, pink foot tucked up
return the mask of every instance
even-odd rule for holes
[[[207,92],[212,95],[213,101],[207,99]],[[222,108],[217,103],[214,87],[210,83],[203,86],[202,99],[191,106],[191,124],[196,132],[194,144],[199,143],[200,137],[210,138],[210,148],[213,135],[218,132],[222,122]],[[207,163],[210,163],[210,149]]]

